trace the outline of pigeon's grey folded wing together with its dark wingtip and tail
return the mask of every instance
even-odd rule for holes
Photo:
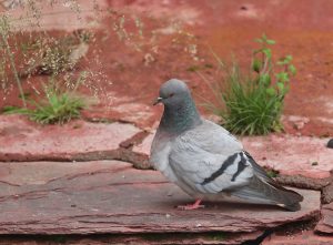
[[[202,194],[229,193],[249,202],[278,204],[292,211],[300,207],[302,196],[280,186],[224,131],[220,134],[223,140],[212,141],[219,131],[214,126],[203,127],[183,133],[172,144],[169,164],[181,187]]]

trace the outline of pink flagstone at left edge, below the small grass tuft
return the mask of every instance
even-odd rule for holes
[[[38,125],[19,115],[0,115],[0,161],[120,159],[120,144],[141,130],[128,123]]]

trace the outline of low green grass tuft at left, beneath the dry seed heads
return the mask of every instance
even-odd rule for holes
[[[77,85],[72,91],[57,88],[53,82],[44,86],[46,99],[36,101],[28,98],[27,102],[31,108],[6,106],[6,114],[23,114],[30,120],[41,124],[63,124],[72,119],[80,116],[82,109],[89,105],[85,98],[78,95],[75,90],[84,76],[80,76]]]

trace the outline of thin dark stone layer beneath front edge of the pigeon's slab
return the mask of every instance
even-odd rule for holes
[[[255,241],[262,232],[252,233],[158,233],[158,234],[103,234],[103,235],[54,235],[27,237],[2,236],[0,245],[218,245],[242,244]]]

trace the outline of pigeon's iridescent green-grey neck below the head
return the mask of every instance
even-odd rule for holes
[[[182,133],[202,121],[192,100],[179,105],[164,105],[160,127],[169,133]]]

